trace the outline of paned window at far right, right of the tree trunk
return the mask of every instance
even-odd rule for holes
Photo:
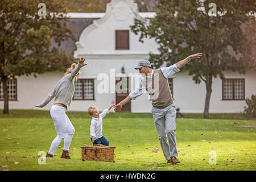
[[[223,79],[222,100],[245,100],[245,79]]]

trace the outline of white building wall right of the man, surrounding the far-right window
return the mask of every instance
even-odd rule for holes
[[[225,71],[225,78],[245,78],[245,98],[256,94],[256,72],[247,72],[246,75]],[[181,113],[203,113],[206,96],[205,83],[195,84],[188,72],[179,72],[174,75],[174,98],[176,107]],[[222,100],[222,80],[213,78],[212,94],[210,97],[210,113],[240,113],[246,106],[245,101]]]

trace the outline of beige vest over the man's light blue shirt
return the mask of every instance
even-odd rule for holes
[[[155,69],[152,78],[151,76],[143,77],[142,84],[150,95],[152,106],[162,109],[174,102],[168,79],[164,77],[161,69]]]

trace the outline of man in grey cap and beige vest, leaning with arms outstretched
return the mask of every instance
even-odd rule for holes
[[[191,59],[200,58],[203,53],[196,53],[186,57],[184,60],[177,62],[174,65],[166,68],[153,70],[150,61],[139,61],[135,69],[139,69],[139,73],[143,75],[139,81],[139,86],[134,92],[131,92],[124,100],[115,105],[114,111],[120,111],[122,106],[135,100],[141,96],[145,90],[150,95],[152,101],[152,115],[155,123],[155,128],[158,133],[158,138],[163,150],[164,157],[167,163],[176,164],[180,161],[176,158],[176,109],[172,100],[171,90],[168,85],[168,76],[180,71],[180,68],[188,63]],[[167,137],[166,137],[167,136]],[[168,142],[167,142],[168,138]]]

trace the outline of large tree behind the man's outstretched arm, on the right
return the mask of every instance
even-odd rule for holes
[[[228,69],[240,73],[245,73],[248,67],[255,69],[252,44],[242,31],[248,20],[255,24],[254,16],[248,16],[255,13],[255,1],[158,2],[155,18],[135,18],[131,30],[140,34],[141,42],[149,37],[159,44],[160,54],[150,53],[155,68],[164,62],[174,64],[195,52],[204,53],[201,59],[190,61],[183,69],[188,69],[196,84],[205,82],[204,118],[209,118],[213,77],[224,78],[223,72]]]

